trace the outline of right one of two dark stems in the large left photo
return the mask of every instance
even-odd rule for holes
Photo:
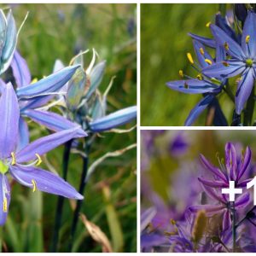
[[[79,193],[81,195],[84,195],[84,189],[86,186],[86,176],[87,176],[88,166],[89,166],[90,143],[87,143],[87,139],[88,138],[85,138],[85,140],[86,140],[85,146],[84,146],[85,155],[83,158],[83,171],[81,174],[80,186],[79,186]],[[77,205],[76,205],[75,211],[73,213],[73,223],[72,223],[72,227],[71,227],[71,234],[70,234],[70,240],[69,240],[69,245],[68,245],[69,252],[72,252],[74,236],[75,236],[75,232],[76,232],[78,221],[79,221],[79,212],[81,210],[82,205],[83,205],[83,200],[77,201]]]

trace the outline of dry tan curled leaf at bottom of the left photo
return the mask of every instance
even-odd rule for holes
[[[102,253],[113,253],[108,237],[102,232],[102,230],[96,224],[90,222],[84,214],[80,214],[80,218],[92,239],[102,245]]]

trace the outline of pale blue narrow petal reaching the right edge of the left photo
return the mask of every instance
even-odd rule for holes
[[[123,108],[100,119],[90,122],[90,130],[94,132],[107,131],[119,125],[125,125],[137,117],[137,107]]]

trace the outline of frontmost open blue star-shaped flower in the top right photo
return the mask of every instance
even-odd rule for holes
[[[212,34],[229,55],[225,61],[217,61],[203,69],[203,73],[214,78],[231,78],[240,75],[236,90],[236,113],[241,114],[253,90],[256,72],[256,14],[250,11],[241,34],[241,45],[220,29],[211,25]]]

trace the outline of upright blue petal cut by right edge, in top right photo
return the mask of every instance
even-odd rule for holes
[[[256,15],[249,11],[245,20],[241,34],[241,48],[247,56],[254,57],[256,55]],[[249,36],[249,41],[246,43],[246,38]]]

